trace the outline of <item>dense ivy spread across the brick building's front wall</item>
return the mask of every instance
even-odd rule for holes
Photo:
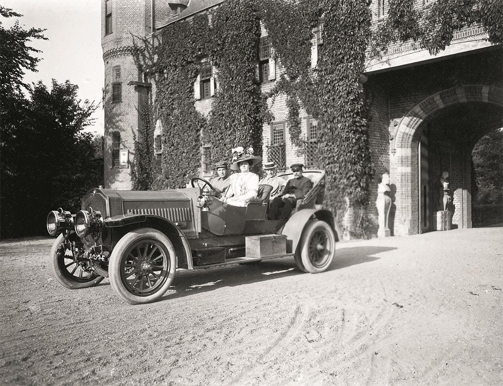
[[[366,58],[381,56],[393,42],[414,41],[436,53],[455,31],[474,23],[499,43],[501,4],[446,0],[418,10],[412,0],[390,0],[387,18],[372,28],[366,0],[227,0],[209,11],[211,22],[198,15],[164,27],[153,43],[144,39],[136,51],[139,67],[155,83],[149,130],[157,119],[162,122],[162,173],[149,188],[185,186],[200,171],[202,143],[212,145],[212,161],[230,156],[236,146],[251,146],[260,155],[263,124],[273,119],[267,100],[286,95],[287,126],[295,145],[301,146],[300,108],[319,119],[318,152],[327,171],[325,205],[344,213],[349,204],[364,213],[374,175],[361,84]],[[261,93],[256,74],[261,21],[280,69],[268,94]],[[323,50],[312,68],[313,31],[321,25]],[[209,58],[217,70],[208,119],[197,112],[194,99],[202,58]],[[141,177],[136,173],[133,178]],[[361,216],[357,234],[365,226]]]

